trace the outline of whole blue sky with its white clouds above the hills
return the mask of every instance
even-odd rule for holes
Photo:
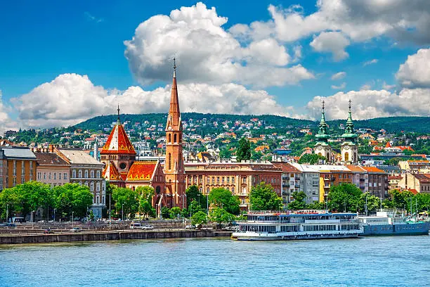
[[[178,57],[178,81],[184,84],[184,103],[181,105],[185,111],[223,112],[222,108],[213,109],[216,105],[204,106],[204,101],[197,103],[206,94],[211,98],[219,96],[217,101],[235,106],[226,108],[226,113],[273,112],[293,117],[315,117],[321,100],[318,96],[323,96],[329,100],[329,106],[332,100],[332,108],[327,112],[333,118],[342,117],[341,110],[349,98],[353,98],[360,108],[357,112],[363,110],[363,113],[358,113],[358,118],[428,115],[429,109],[421,111],[400,103],[403,101],[402,93],[415,95],[420,91],[424,98],[428,96],[426,90],[418,90],[427,88],[426,82],[430,79],[426,75],[411,75],[410,70],[405,69],[400,71],[400,65],[412,70],[420,69],[413,65],[421,61],[408,63],[408,56],[427,56],[427,53],[417,54],[419,49],[426,51],[429,46],[429,39],[423,32],[426,31],[424,28],[430,27],[425,20],[429,15],[426,1],[417,1],[422,6],[417,4],[416,7],[400,1],[404,6],[400,3],[391,8],[384,6],[384,1],[379,1],[381,4],[372,4],[370,0],[336,1],[351,15],[333,10],[327,0],[320,6],[311,0],[204,1],[206,7],[200,6],[200,9],[195,8],[195,1],[6,1],[0,4],[3,12],[0,17],[0,90],[1,112],[4,113],[0,120],[3,118],[4,125],[8,127],[71,125],[86,117],[109,113],[116,104],[114,102],[119,101],[122,101],[120,105],[124,106],[124,113],[162,111],[166,103],[154,105],[154,102],[155,98],[165,98],[160,95],[168,93],[171,75],[167,67],[171,66],[169,59],[173,56]],[[176,20],[171,18],[171,28],[166,28],[165,33],[176,29],[175,41],[188,41],[188,46],[175,47],[176,42],[172,44],[170,38],[163,37],[164,32],[161,35],[151,34],[149,29],[142,29],[141,34],[135,32],[139,24],[149,23],[150,19],[154,23],[152,30],[161,27],[162,22],[158,24],[152,16],[169,16],[171,11],[182,6],[195,8],[195,11],[190,10],[192,14],[190,11],[180,13],[180,17],[186,16],[190,22],[177,26]],[[206,13],[211,7],[216,9],[215,16]],[[360,15],[354,18],[356,14]],[[393,19],[393,15],[400,16]],[[283,18],[277,20],[276,16]],[[219,17],[226,17],[228,21],[214,27],[207,22],[197,26],[192,24],[193,18],[216,22],[214,19]],[[320,18],[315,20],[315,17]],[[297,18],[301,20],[297,22]],[[237,25],[252,27],[256,21],[266,27],[266,32],[235,32],[238,31]],[[398,32],[402,25],[406,26],[403,34]],[[219,35],[213,37],[214,29],[221,29],[224,40],[228,38],[219,45],[232,44],[231,49],[219,47],[214,48],[214,53],[199,55],[205,49],[199,46],[204,43],[204,37],[208,36],[209,46],[217,45]],[[300,32],[292,37],[297,30]],[[181,32],[184,32],[182,36]],[[199,34],[197,40],[193,33]],[[133,37],[136,37],[135,41],[124,44]],[[141,43],[148,41],[152,42],[150,47],[142,47]],[[266,41],[266,46],[260,46],[258,51],[250,48],[261,41]],[[237,43],[241,47],[235,46]],[[166,49],[166,46],[171,46],[171,49]],[[297,47],[299,57],[294,56]],[[227,54],[231,56],[224,58]],[[271,54],[273,58],[268,57]],[[340,56],[336,58],[336,55]],[[160,64],[159,60],[154,63],[157,57],[165,64]],[[278,60],[282,57],[287,58]],[[371,60],[374,63],[365,65]],[[200,65],[203,61],[204,65]],[[226,61],[228,65],[224,65]],[[239,69],[237,65],[241,65]],[[214,72],[218,66],[221,71]],[[302,70],[296,72],[294,67]],[[261,75],[250,76],[254,72]],[[273,75],[269,76],[271,72]],[[331,79],[338,72],[344,72],[344,77]],[[283,73],[289,76],[282,78]],[[72,76],[70,79],[63,76],[63,80],[35,89],[61,75]],[[84,75],[88,79],[83,79]],[[230,83],[237,86],[227,87]],[[82,88],[81,84],[84,85]],[[195,84],[200,85],[198,89]],[[73,94],[76,92],[74,87],[79,87],[77,92],[83,95]],[[93,91],[94,87],[103,91]],[[132,94],[133,101],[145,107],[136,109],[135,103],[128,108],[129,87],[139,88],[133,91],[138,93]],[[163,89],[159,91],[161,94],[155,92],[157,88]],[[211,89],[214,95],[207,94],[204,89]],[[243,96],[237,98],[239,91]],[[88,102],[86,98],[93,97],[93,94],[103,103]],[[261,103],[267,106],[266,109],[258,105],[259,96],[263,98]],[[147,98],[139,99],[141,97]],[[396,100],[389,101],[391,97]],[[65,98],[69,103],[71,99],[74,105],[85,108],[81,109],[82,113],[74,111],[65,115],[58,106],[45,102],[47,99],[56,101],[56,98]],[[39,105],[29,104],[29,101]],[[396,101],[397,106],[393,106]],[[384,108],[379,108],[380,103]]]

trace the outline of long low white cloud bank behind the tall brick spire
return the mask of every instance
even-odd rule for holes
[[[107,91],[86,75],[63,74],[11,101],[25,127],[58,127],[115,113],[117,103],[122,113],[167,113],[170,92],[171,85],[152,91],[141,87]],[[183,112],[302,117],[289,113],[292,108],[281,106],[267,91],[249,90],[240,84],[178,84],[178,93]],[[0,112],[0,122],[6,116]]]

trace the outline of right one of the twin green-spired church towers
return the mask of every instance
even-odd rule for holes
[[[358,162],[358,136],[354,134],[354,124],[351,117],[351,99],[349,100],[348,120],[346,120],[345,132],[341,137],[344,138],[341,144],[342,162],[356,165]]]

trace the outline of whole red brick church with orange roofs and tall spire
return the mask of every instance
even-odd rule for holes
[[[117,123],[100,152],[100,161],[105,164],[103,177],[110,181],[110,184],[130,189],[136,189],[138,186],[152,186],[155,189],[152,206],[157,209],[157,213],[162,206],[186,207],[182,123],[176,86],[176,65],[174,65],[167,116],[166,141],[164,168],[159,160],[136,161],[136,151],[119,120],[118,107]]]

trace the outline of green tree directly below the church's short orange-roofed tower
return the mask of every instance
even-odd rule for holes
[[[117,213],[129,215],[133,219],[139,210],[139,195],[137,191],[125,187],[117,187],[112,191],[112,198],[115,200]]]

